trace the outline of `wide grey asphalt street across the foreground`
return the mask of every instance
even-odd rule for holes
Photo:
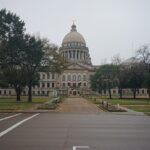
[[[140,115],[24,113],[1,121],[0,132],[33,115],[36,116],[0,137],[1,150],[149,150],[150,147],[150,118]]]

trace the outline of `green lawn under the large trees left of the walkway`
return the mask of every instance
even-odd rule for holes
[[[33,97],[33,102],[28,103],[27,97],[21,97],[20,102],[16,102],[15,97],[0,97],[0,112],[7,112],[7,111],[22,111],[26,109],[31,109],[36,104],[44,103],[50,100],[50,97]]]

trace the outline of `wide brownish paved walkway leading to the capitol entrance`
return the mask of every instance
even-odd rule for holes
[[[58,112],[98,113],[102,110],[82,97],[69,97],[60,104]]]

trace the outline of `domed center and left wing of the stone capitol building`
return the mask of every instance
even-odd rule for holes
[[[39,72],[39,86],[32,89],[33,95],[87,95],[91,93],[90,76],[94,74],[89,49],[84,37],[77,31],[76,25],[62,40],[60,55],[67,60],[68,65],[61,74]],[[25,88],[22,95],[27,95]],[[0,89],[0,95],[15,95],[12,88]]]

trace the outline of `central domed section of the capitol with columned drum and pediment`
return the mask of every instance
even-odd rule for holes
[[[75,24],[65,35],[59,52],[69,62],[60,76],[59,93],[66,91],[67,95],[90,94],[90,76],[94,73],[94,67],[86,42],[77,32]]]

